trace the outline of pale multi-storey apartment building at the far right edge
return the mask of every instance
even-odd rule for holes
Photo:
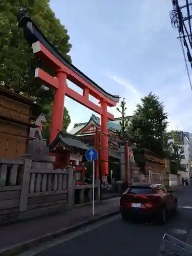
[[[181,146],[181,166],[190,173],[190,161],[191,161],[191,149],[192,149],[192,135],[188,132],[178,131],[178,141]],[[168,144],[173,142],[173,137],[171,133],[168,133]],[[170,148],[172,148],[170,146]]]

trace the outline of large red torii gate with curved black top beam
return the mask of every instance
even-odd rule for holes
[[[107,111],[107,106],[116,106],[120,97],[105,92],[94,81],[63,58],[29,17],[21,14],[19,26],[23,27],[25,37],[32,45],[33,53],[37,58],[47,63],[56,74],[56,77],[53,77],[39,68],[35,70],[35,77],[44,80],[47,84],[55,88],[50,143],[55,139],[58,131],[62,130],[65,95],[100,114],[100,131],[103,134],[108,134],[108,119],[114,120],[114,116]],[[67,79],[80,87],[83,90],[83,95],[69,88],[66,82]],[[89,100],[89,94],[99,100],[100,106]],[[108,136],[102,136],[101,143],[103,147],[100,152],[101,175],[104,175],[109,173]]]

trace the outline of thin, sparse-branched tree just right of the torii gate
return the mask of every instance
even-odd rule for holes
[[[119,124],[121,125],[121,130],[117,131],[119,136],[121,138],[125,138],[126,137],[126,128],[128,126],[129,120],[125,119],[125,111],[126,111],[126,102],[125,99],[123,98],[123,100],[120,102],[120,106],[119,108],[117,108],[117,111],[121,114],[121,120],[119,122]]]

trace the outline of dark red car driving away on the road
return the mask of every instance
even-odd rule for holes
[[[159,223],[165,223],[167,217],[177,211],[178,204],[174,192],[161,184],[131,185],[120,199],[123,220],[150,217]]]

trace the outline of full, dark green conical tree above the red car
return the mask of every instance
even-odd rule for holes
[[[137,148],[162,153],[163,135],[167,127],[167,114],[164,105],[159,98],[152,94],[141,98],[141,104],[137,104],[134,117],[130,121],[127,134],[129,140],[135,143]]]

